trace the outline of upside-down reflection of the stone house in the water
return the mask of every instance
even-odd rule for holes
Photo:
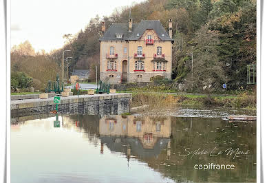
[[[104,116],[99,120],[99,135],[111,151],[125,153],[128,160],[131,155],[157,157],[170,143],[171,118]]]

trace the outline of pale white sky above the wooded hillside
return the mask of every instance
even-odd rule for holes
[[[64,34],[76,34],[91,18],[145,0],[12,0],[11,47],[28,40],[35,51],[58,49]]]

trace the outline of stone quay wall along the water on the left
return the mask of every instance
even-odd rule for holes
[[[59,114],[90,114],[109,115],[130,112],[131,94],[103,94],[70,96],[61,98],[58,105]],[[13,100],[11,116],[28,116],[45,114],[56,110],[53,98]]]

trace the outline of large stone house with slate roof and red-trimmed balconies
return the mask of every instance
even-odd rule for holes
[[[153,76],[171,79],[172,21],[169,34],[158,20],[114,23],[100,41],[100,80],[111,84],[149,82]]]

